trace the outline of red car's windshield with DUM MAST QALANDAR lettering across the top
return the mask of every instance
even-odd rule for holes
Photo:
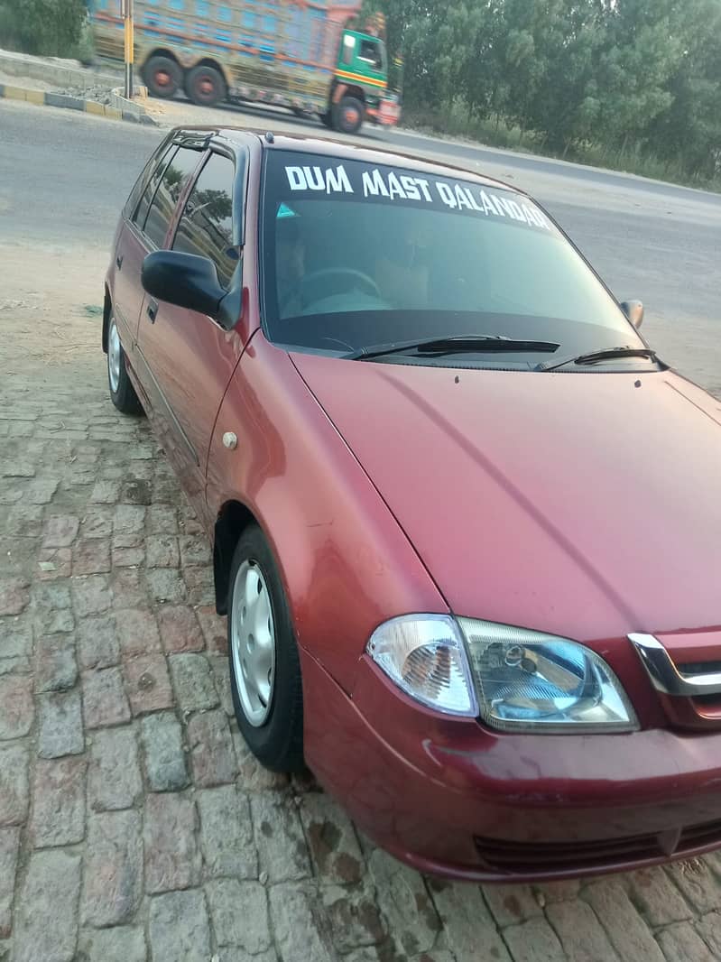
[[[343,355],[471,336],[553,342],[558,357],[643,346],[556,225],[515,191],[273,150],[263,197],[263,325],[288,349]],[[548,360],[515,347],[485,353],[479,344],[474,353],[466,344],[462,363]],[[413,363],[456,363],[452,354]],[[401,351],[385,360],[409,358]]]

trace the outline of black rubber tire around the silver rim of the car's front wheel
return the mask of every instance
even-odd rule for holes
[[[249,721],[243,706],[234,652],[234,618],[239,620],[241,612],[239,598],[234,605],[236,590],[240,591],[236,586],[236,578],[245,565],[261,572],[269,595],[275,635],[275,675],[269,707],[266,709],[268,714],[261,723],[257,721],[255,724]],[[237,657],[240,657],[239,651]],[[273,772],[303,771],[303,686],[298,648],[278,567],[261,529],[256,525],[243,531],[233,555],[228,597],[228,658],[237,724],[248,747],[261,765]]]

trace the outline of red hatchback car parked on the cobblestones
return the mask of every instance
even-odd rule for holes
[[[120,218],[112,400],[213,547],[237,722],[423,872],[721,845],[721,407],[458,169],[177,130]]]

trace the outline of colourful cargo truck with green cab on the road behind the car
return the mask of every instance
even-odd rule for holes
[[[135,0],[135,60],[152,96],[183,89],[196,104],[223,100],[317,114],[355,133],[365,118],[391,125],[382,15],[360,21],[361,0]],[[94,0],[97,53],[122,60],[120,0]]]

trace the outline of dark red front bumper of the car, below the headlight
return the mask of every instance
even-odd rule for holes
[[[426,711],[363,657],[301,652],[306,757],[379,845],[478,881],[616,872],[721,846],[721,733],[519,735]]]

